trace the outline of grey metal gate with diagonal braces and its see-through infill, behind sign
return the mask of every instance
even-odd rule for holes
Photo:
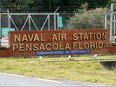
[[[33,28],[35,28],[36,30],[43,30],[45,28],[45,25],[47,25],[46,30],[56,30],[58,29],[58,16],[59,13],[0,13],[0,36],[2,28],[4,26],[9,29],[13,26],[16,31],[22,31],[27,26],[28,29],[26,30],[33,30]],[[23,21],[21,21],[21,23],[19,24],[18,22],[20,21],[20,19]],[[35,23],[35,21],[37,23]]]

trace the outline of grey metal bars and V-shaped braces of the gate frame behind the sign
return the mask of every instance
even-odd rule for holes
[[[45,20],[41,26],[41,28],[38,28],[38,26],[36,25],[35,21],[33,20],[33,17],[32,16],[45,16]],[[50,30],[51,29],[51,16],[52,16],[52,20],[53,20],[53,29],[54,30],[57,30],[58,29],[58,17],[59,17],[59,13],[0,13],[0,37],[1,36],[1,31],[2,31],[2,16],[6,16],[7,17],[7,28],[11,28],[11,23],[14,25],[14,28],[16,31],[22,31],[24,30],[24,27],[26,25],[26,23],[28,22],[28,30],[32,30],[31,29],[31,24],[34,25],[35,29],[36,30],[43,30],[44,29],[44,26],[45,24],[47,23],[47,29]],[[17,27],[17,24],[15,23],[15,21],[13,20],[12,16],[26,16],[26,20],[25,22],[23,23],[22,27],[19,29]],[[41,22],[41,21],[40,21]]]

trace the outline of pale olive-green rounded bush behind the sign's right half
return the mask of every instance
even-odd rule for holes
[[[68,29],[96,29],[104,28],[104,9],[96,8],[94,10],[84,9],[80,13],[75,13],[68,20]]]

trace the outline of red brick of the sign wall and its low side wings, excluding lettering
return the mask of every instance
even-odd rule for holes
[[[74,37],[74,33],[103,33],[105,32],[106,34],[106,39],[91,39],[91,40],[81,40],[81,39],[77,39],[76,37]],[[40,34],[42,34],[42,39],[45,39],[45,41],[14,41],[14,35],[21,35],[21,39],[24,38],[24,34],[26,35],[32,35],[32,34],[38,34],[39,35],[39,39],[40,38]],[[60,38],[60,39],[53,39],[53,34],[66,34],[66,39],[65,38]],[[57,35],[57,37],[59,37]],[[73,39],[72,39],[73,37]],[[86,36],[84,37],[86,38]],[[91,38],[94,38],[93,36],[91,36]],[[77,40],[75,40],[77,39]],[[55,41],[56,40],[56,41]],[[49,43],[49,44],[59,44],[61,43],[61,46],[64,47],[66,43],[68,43],[70,45],[70,50],[75,50],[73,49],[74,47],[72,47],[73,42],[77,42],[80,44],[80,46],[83,47],[84,43],[90,43],[90,42],[106,42],[108,45],[108,48],[99,48],[99,49],[94,49],[95,46],[93,46],[91,50],[90,54],[106,54],[106,53],[116,53],[116,46],[112,45],[109,43],[109,30],[108,29],[94,29],[94,30],[45,30],[45,31],[11,31],[9,32],[9,44],[10,47],[7,49],[0,49],[0,57],[10,57],[10,56],[35,56],[35,52],[34,50],[29,51],[29,50],[24,50],[24,51],[20,51],[19,49],[15,49],[13,51],[13,44],[38,44],[38,46],[43,43],[44,45]],[[59,47],[60,48],[60,47]],[[64,49],[66,50],[66,49]],[[78,48],[76,48],[76,50],[78,50]],[[86,49],[82,49],[82,50],[86,50]],[[39,50],[39,51],[46,51],[46,50]],[[52,48],[50,51],[54,51],[54,49]]]

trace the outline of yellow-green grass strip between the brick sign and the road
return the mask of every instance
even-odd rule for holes
[[[115,58],[116,55],[99,56]],[[79,56],[75,59],[87,59]],[[89,56],[93,58],[93,56]],[[45,57],[44,60],[67,60],[66,57]],[[1,58],[0,72],[34,76],[47,79],[68,79],[116,85],[116,71],[100,67],[98,60],[38,62],[38,58]]]

